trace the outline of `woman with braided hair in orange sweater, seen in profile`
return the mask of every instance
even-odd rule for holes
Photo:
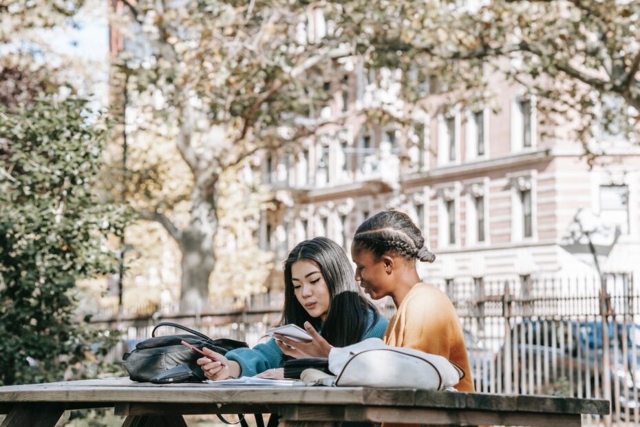
[[[465,375],[456,388],[473,391],[469,357],[454,304],[431,284],[420,281],[416,260],[434,262],[420,229],[406,213],[382,211],[356,230],[351,246],[356,281],[374,300],[390,296],[398,311],[385,331],[385,344],[446,357]],[[325,348],[320,339],[307,351]],[[325,350],[326,351],[326,350]]]

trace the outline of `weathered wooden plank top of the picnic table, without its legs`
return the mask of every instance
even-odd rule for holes
[[[596,399],[551,396],[493,395],[436,390],[363,387],[252,386],[131,382],[128,378],[0,387],[0,410],[8,402],[67,402],[100,406],[118,403],[160,404],[323,404],[465,408],[531,413],[609,413],[609,403]],[[6,406],[5,406],[6,407]]]

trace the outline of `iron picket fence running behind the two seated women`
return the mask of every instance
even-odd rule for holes
[[[608,274],[604,284],[530,276],[436,283],[460,316],[476,390],[610,399],[611,417],[587,421],[640,425],[639,290],[626,273]],[[95,322],[123,331],[125,340],[108,356],[116,361],[162,320],[257,344],[279,322],[282,303],[281,293],[270,293],[200,315],[158,311]],[[394,314],[391,300],[376,304],[383,315]]]

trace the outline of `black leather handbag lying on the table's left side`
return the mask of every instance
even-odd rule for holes
[[[189,334],[165,335],[156,337],[160,326],[173,326]],[[201,382],[206,379],[202,368],[196,362],[202,355],[191,348],[180,344],[186,341],[196,348],[226,354],[235,348],[246,347],[246,342],[229,340],[211,340],[211,338],[193,329],[173,322],[160,322],[153,328],[151,338],[138,342],[131,353],[122,355],[122,364],[129,373],[129,378],[137,382],[153,382],[155,384],[173,384],[180,382]]]

